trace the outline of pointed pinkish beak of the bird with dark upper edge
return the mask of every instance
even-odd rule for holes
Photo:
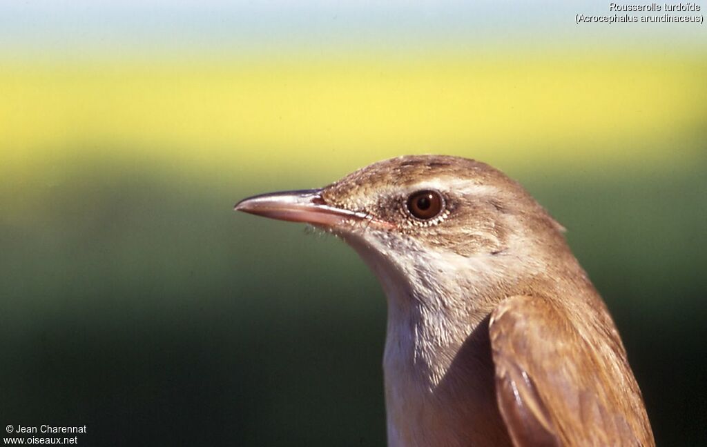
[[[345,222],[356,221],[369,221],[383,226],[391,226],[388,222],[375,220],[366,213],[328,205],[322,198],[321,189],[284,191],[252,196],[236,203],[233,209],[271,219],[305,222],[325,227],[338,227]]]

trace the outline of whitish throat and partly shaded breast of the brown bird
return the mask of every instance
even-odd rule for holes
[[[390,246],[377,241],[347,242],[378,276],[387,296],[383,369],[389,445],[510,442],[493,393],[484,324],[490,309],[483,299],[469,299],[469,293],[488,292],[484,284],[490,284],[488,275],[496,269],[481,258],[431,256],[413,242],[404,248],[406,256],[395,256],[400,247],[391,253],[386,251]],[[419,258],[421,253],[427,257]],[[463,276],[474,284],[440,275]]]

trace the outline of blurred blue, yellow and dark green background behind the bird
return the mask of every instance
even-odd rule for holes
[[[0,422],[384,445],[375,278],[232,208],[443,153],[568,228],[658,444],[707,443],[707,27],[608,7],[0,4]]]

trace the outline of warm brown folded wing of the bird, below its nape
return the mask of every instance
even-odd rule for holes
[[[491,314],[496,398],[513,443],[654,446],[641,392],[603,303],[576,326],[571,311],[549,299],[515,296]]]

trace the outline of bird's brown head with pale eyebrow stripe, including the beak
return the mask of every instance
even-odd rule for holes
[[[491,283],[519,268],[532,275],[543,268],[543,251],[564,245],[561,225],[520,184],[461,157],[396,157],[322,189],[246,198],[235,210],[337,234],[388,289],[438,287],[433,278],[460,269],[472,283],[469,272]]]

